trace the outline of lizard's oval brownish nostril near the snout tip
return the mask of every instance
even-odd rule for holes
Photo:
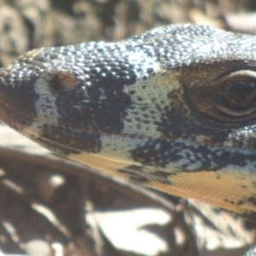
[[[76,79],[72,74],[57,74],[49,81],[49,86],[56,92],[69,91],[76,87]]]

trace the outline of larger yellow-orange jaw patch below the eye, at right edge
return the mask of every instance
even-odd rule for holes
[[[170,176],[171,185],[148,182],[147,186],[166,193],[203,201],[232,212],[256,212],[256,176],[250,173],[179,172]],[[249,199],[255,198],[255,203]]]

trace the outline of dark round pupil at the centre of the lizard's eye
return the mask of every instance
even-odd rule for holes
[[[248,84],[236,83],[230,86],[230,98],[233,102],[242,103],[247,100],[250,94],[250,87]]]

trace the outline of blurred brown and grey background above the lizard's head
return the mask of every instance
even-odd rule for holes
[[[0,63],[29,49],[119,41],[172,23],[254,33],[255,10],[253,0],[0,0]]]

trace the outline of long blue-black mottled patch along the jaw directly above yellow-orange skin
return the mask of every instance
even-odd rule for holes
[[[156,139],[131,150],[131,157],[144,166],[156,168],[165,168],[172,162],[177,166],[177,161],[180,160],[177,168],[183,172],[213,172],[229,165],[244,167],[247,161],[254,164],[253,170],[256,167],[253,153],[243,154],[236,150],[189,145],[164,139]],[[195,168],[192,169],[194,164]]]

